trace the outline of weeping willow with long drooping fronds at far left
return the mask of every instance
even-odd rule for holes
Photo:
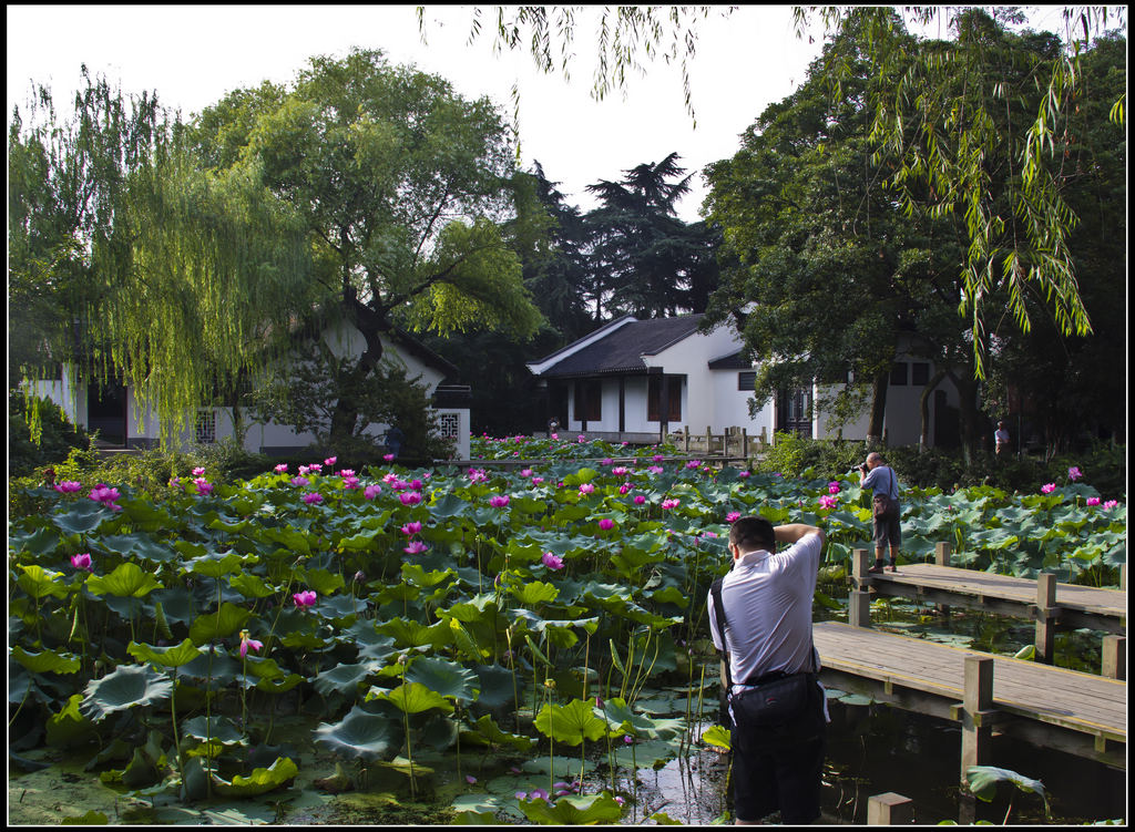
[[[168,444],[272,362],[310,257],[254,166],[202,173],[153,93],[82,75],[70,116],[40,86],[9,126],[9,370],[128,385]]]

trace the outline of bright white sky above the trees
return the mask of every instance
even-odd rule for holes
[[[495,7],[486,9],[484,34],[472,44],[471,7],[427,7],[428,45],[414,8],[8,6],[8,115],[26,101],[32,81],[50,85],[62,112],[79,86],[83,62],[125,93],[157,91],[160,103],[188,116],[230,90],[289,82],[311,56],[377,48],[394,64],[445,77],[466,98],[488,95],[510,118],[518,84],[522,165],[538,160],[548,178],[562,183],[569,202],[587,210],[595,202],[585,186],[619,179],[623,170],[672,151],[688,173],[733,156],[739,134],[805,79],[821,49],[818,32],[812,44],[796,36],[788,6],[745,6],[729,18],[711,12],[699,24],[690,67],[695,128],[676,62],[658,60],[647,77],[631,77],[625,96],[591,98],[594,8],[578,17],[570,82],[540,75],[527,51],[494,54]],[[1059,7],[1053,9],[1059,18]],[[1044,27],[1057,27],[1051,15],[1041,17]],[[705,196],[700,176],[691,184],[692,193],[679,203],[687,221],[698,218]]]

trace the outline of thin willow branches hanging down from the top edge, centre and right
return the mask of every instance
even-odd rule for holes
[[[572,44],[577,15],[582,8],[497,7],[495,26],[488,27],[482,25],[481,10],[474,8],[471,34],[476,37],[487,28],[494,48],[527,49],[540,70],[560,70],[566,76],[577,60]],[[598,22],[592,94],[602,99],[613,90],[625,89],[630,70],[645,72],[647,61],[662,56],[667,62],[680,60],[687,110],[693,118],[689,64],[697,52],[698,26],[712,8],[605,7]],[[993,112],[994,108],[1008,106],[1012,95],[995,72],[989,72],[1000,61],[997,44],[975,30],[966,7],[903,7],[902,14],[916,23],[945,20],[959,34],[953,44],[913,54],[906,51],[905,33],[896,25],[889,7],[793,9],[801,37],[816,17],[833,34],[852,12],[874,14],[869,56],[877,75],[885,77],[903,66],[900,82],[880,87],[868,101],[874,112],[873,137],[882,154],[897,160],[891,182],[903,188],[908,208],[928,207],[940,215],[956,212],[965,218],[968,252],[960,268],[964,293],[958,311],[970,321],[975,377],[983,378],[985,372],[984,319],[987,311],[993,311],[991,299],[1000,302],[1004,292],[1009,313],[1023,331],[1028,330],[1032,320],[1027,296],[1040,295],[1045,300],[1044,314],[1058,331],[1091,333],[1075,262],[1068,253],[1067,241],[1076,217],[1061,196],[1062,141],[1066,131],[1075,129],[1071,124],[1082,94],[1079,53],[1109,20],[1126,23],[1124,7],[1065,7],[1067,50],[1060,60],[1045,64],[1043,72],[1037,69],[1033,81],[1043,94],[1035,118],[1014,134],[998,129]],[[728,16],[732,8],[717,11]],[[1004,14],[1003,9],[994,9],[992,16]],[[424,31],[421,7],[419,22]],[[836,98],[847,72],[840,61],[825,67]],[[1121,124],[1125,106],[1126,93],[1113,102],[1109,118]],[[915,141],[907,141],[911,119],[920,129]],[[1015,165],[1004,177],[993,178],[984,159],[1000,148],[1010,149]],[[998,213],[993,203],[1007,188],[1014,196],[1011,211]]]

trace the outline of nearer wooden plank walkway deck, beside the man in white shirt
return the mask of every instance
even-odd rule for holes
[[[992,658],[997,731],[1126,766],[1124,681],[839,622],[813,632],[825,683],[950,720],[961,718],[966,656]]]

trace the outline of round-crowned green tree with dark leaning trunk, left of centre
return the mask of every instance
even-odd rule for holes
[[[468,101],[443,78],[353,50],[311,59],[288,86],[230,93],[191,133],[212,176],[254,169],[302,228],[316,302],[299,318],[362,335],[337,376],[333,446],[365,428],[354,392],[376,378],[393,327],[526,336],[538,327],[514,250],[526,208],[516,200],[530,188],[518,184],[488,99]]]

